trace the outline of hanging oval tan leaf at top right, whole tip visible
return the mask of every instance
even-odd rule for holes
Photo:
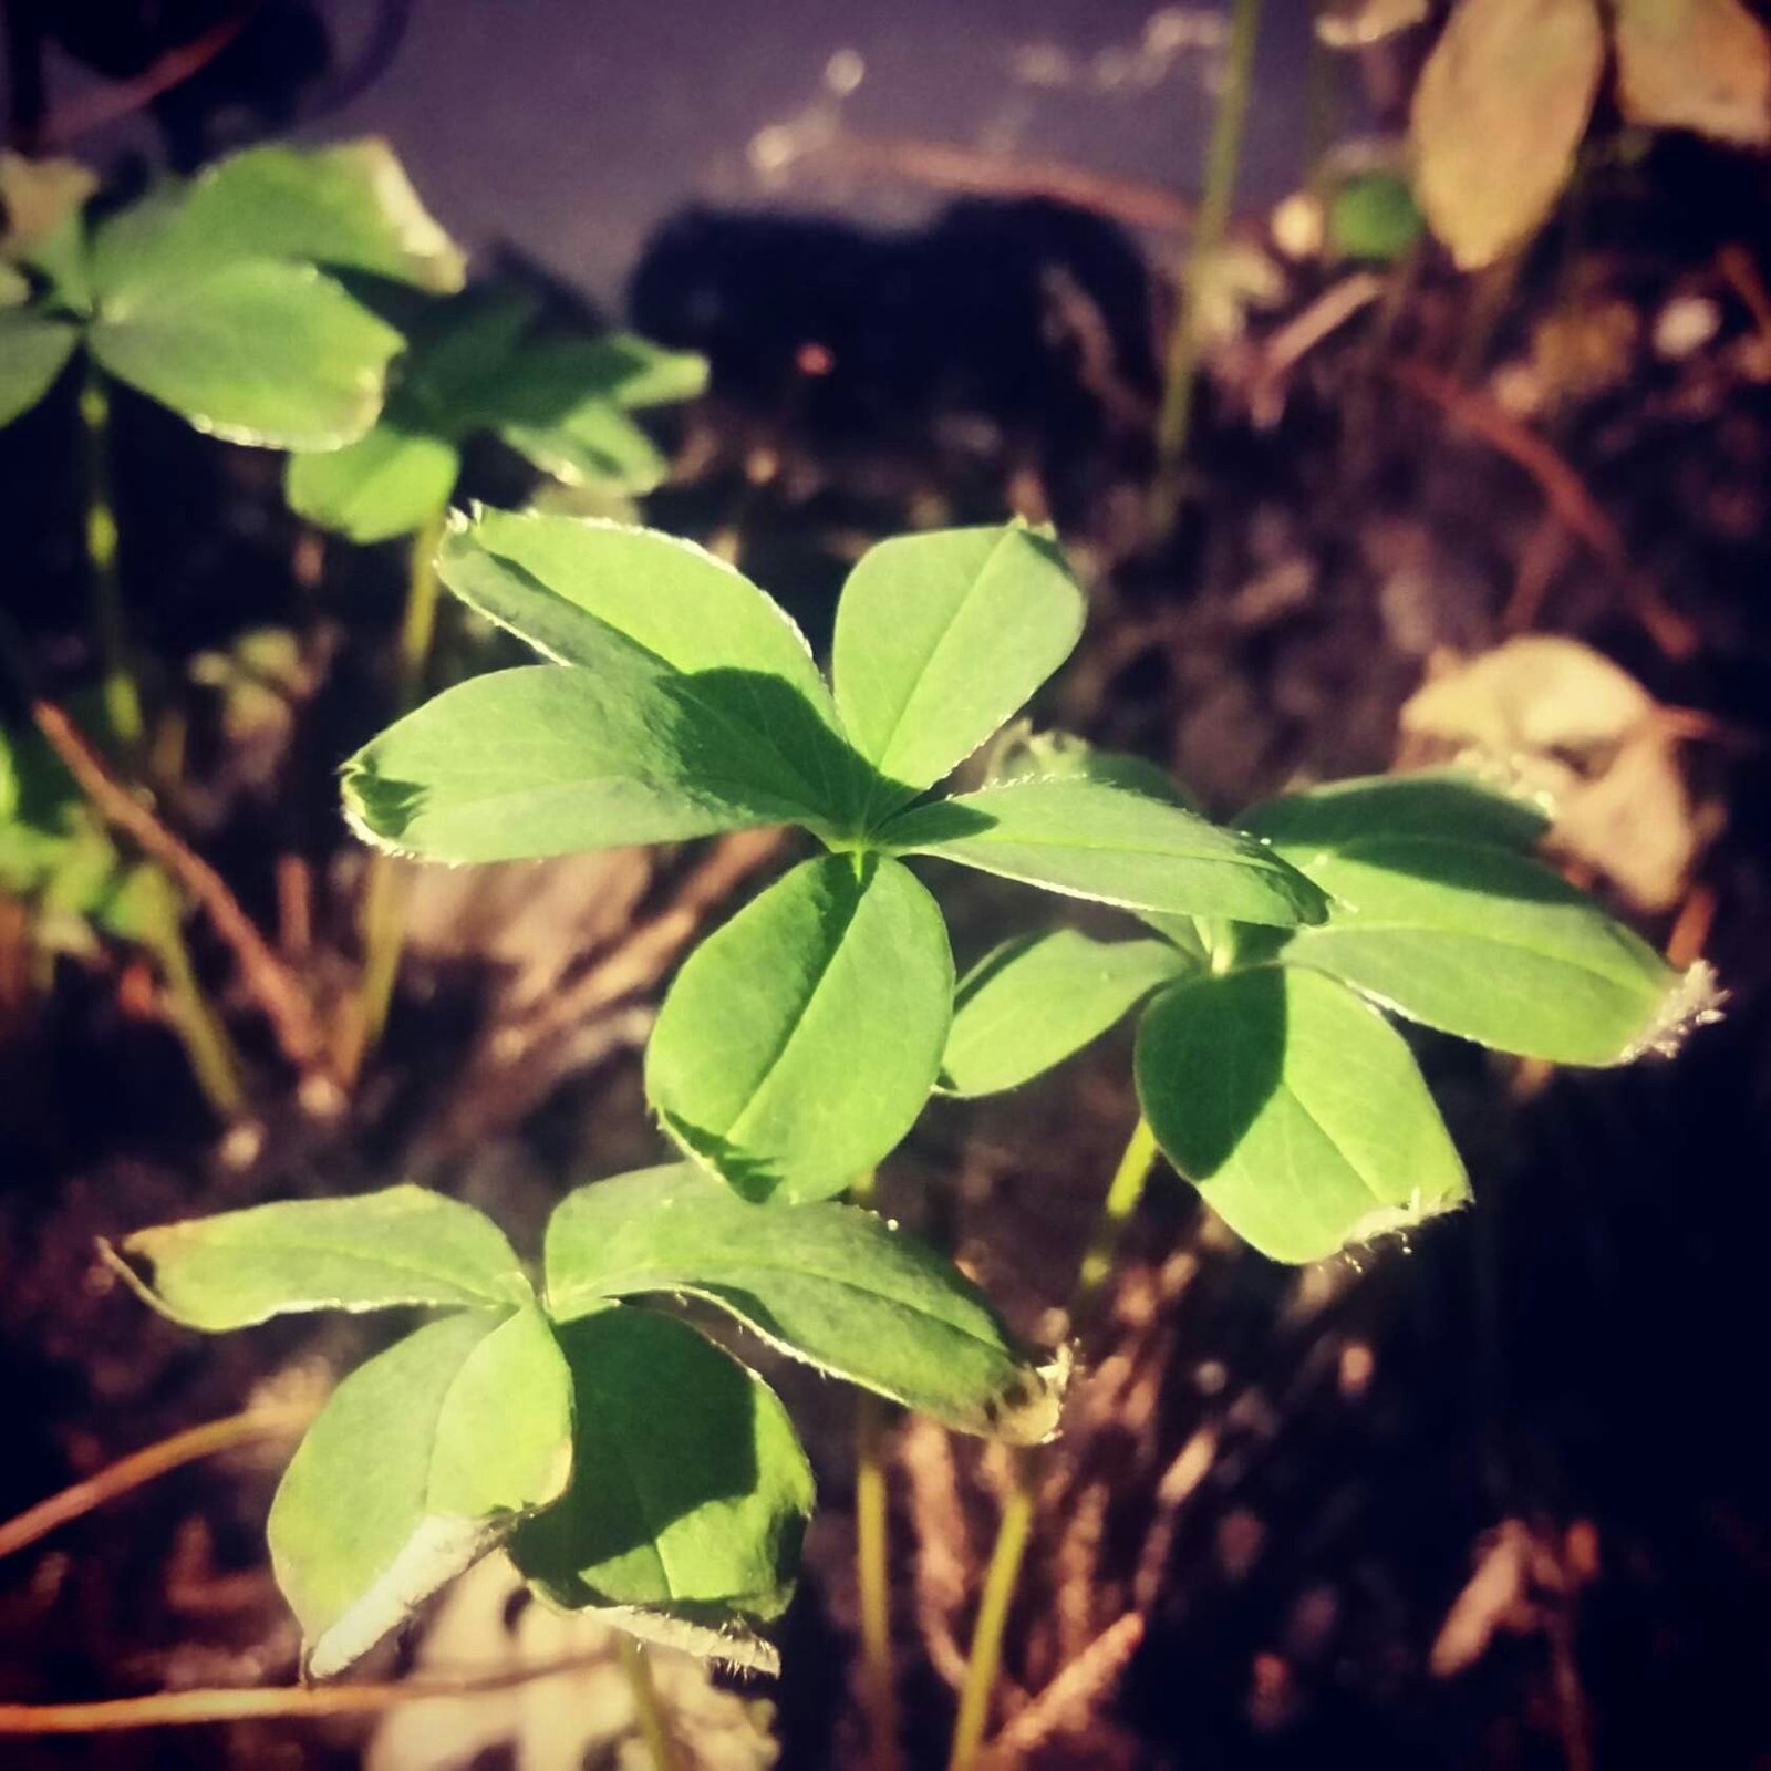
[[[1539,228],[1574,166],[1605,67],[1592,0],[1458,0],[1415,87],[1415,195],[1458,264]]]

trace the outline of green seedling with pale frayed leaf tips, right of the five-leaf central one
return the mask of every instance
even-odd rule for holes
[[[1135,1077],[1164,1155],[1238,1236],[1302,1263],[1468,1199],[1392,1017],[1622,1064],[1716,1015],[1705,965],[1681,976],[1534,861],[1544,811],[1473,777],[1344,781],[1241,827],[1323,891],[1325,921],[1020,937],[960,981],[942,1086],[1017,1087],[1148,1002]]]

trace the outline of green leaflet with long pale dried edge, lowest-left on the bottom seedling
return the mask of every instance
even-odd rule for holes
[[[540,1311],[446,1316],[360,1365],[271,1504],[305,1670],[342,1672],[565,1493],[572,1390]]]

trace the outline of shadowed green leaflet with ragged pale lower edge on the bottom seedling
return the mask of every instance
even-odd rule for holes
[[[687,1323],[615,1309],[567,1325],[577,1440],[565,1500],[510,1553],[554,1605],[730,1654],[793,1596],[811,1468],[774,1392]],[[737,1636],[731,1642],[728,1633]]]

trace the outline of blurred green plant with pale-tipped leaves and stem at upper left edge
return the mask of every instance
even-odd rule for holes
[[[462,260],[381,142],[253,147],[112,213],[89,207],[94,188],[67,161],[0,156],[0,425],[85,354],[94,618],[110,723],[135,751],[106,379],[232,443],[335,450],[374,425],[402,340],[331,273],[457,289]]]

